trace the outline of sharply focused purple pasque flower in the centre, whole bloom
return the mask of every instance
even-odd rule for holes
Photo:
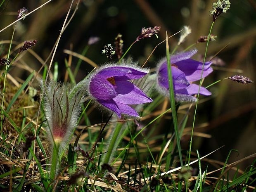
[[[87,90],[92,99],[119,118],[121,114],[139,117],[129,105],[152,102],[152,99],[128,80],[142,78],[147,73],[147,69],[133,66],[104,66],[88,78]]]

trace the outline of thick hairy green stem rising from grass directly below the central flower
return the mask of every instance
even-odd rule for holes
[[[119,143],[116,143],[116,142],[117,142],[117,140],[119,140],[118,136],[119,136],[119,133],[120,133],[122,127],[123,127],[123,123],[119,123],[119,124],[117,124],[117,126],[114,130],[113,136],[111,137],[111,140],[109,142],[109,146],[108,146],[108,149],[107,149],[107,154],[106,154],[106,156],[104,158],[104,161],[103,161],[104,164],[109,164],[109,159],[110,159],[111,155],[113,155],[113,153],[114,153],[114,148],[116,148],[116,146],[119,144]]]

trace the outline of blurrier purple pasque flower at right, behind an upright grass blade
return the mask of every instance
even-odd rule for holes
[[[177,102],[196,102],[197,99],[192,95],[198,94],[199,85],[191,83],[201,78],[203,63],[190,59],[197,50],[171,55],[171,70],[173,76],[173,89]],[[210,67],[212,62],[205,62],[202,78],[208,76],[213,69]],[[157,85],[156,88],[163,95],[169,95],[168,71],[166,58],[162,59],[157,65]],[[201,95],[211,95],[206,88],[200,88]]]

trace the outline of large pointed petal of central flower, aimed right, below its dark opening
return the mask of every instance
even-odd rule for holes
[[[147,95],[129,81],[116,81],[117,96],[113,98],[115,102],[123,104],[142,104],[152,102]]]

